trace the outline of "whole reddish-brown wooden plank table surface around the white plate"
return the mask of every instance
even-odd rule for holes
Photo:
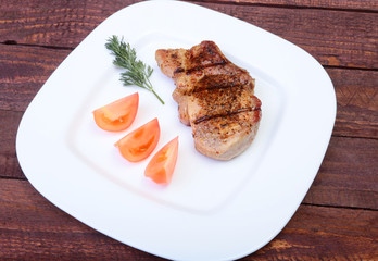
[[[20,120],[68,53],[133,0],[0,0],[0,260],[160,260],[46,200],[15,153]],[[378,1],[204,0],[300,46],[326,69],[338,113],[298,212],[243,260],[378,260]],[[322,101],[319,101],[322,105]]]

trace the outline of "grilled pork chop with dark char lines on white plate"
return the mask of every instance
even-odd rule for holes
[[[230,160],[253,141],[261,119],[254,79],[220,52],[213,41],[186,49],[160,49],[161,71],[176,85],[179,119],[192,127],[196,149]]]

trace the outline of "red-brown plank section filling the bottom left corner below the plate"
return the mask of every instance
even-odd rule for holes
[[[0,178],[0,260],[153,258],[65,214],[25,181]]]

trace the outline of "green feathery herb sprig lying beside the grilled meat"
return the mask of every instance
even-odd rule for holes
[[[153,69],[150,65],[146,65],[142,61],[137,60],[136,50],[131,48],[129,44],[124,42],[124,38],[119,41],[118,37],[113,35],[108,39],[105,47],[111,50],[112,54],[115,57],[113,64],[126,69],[126,71],[121,74],[119,78],[125,86],[136,85],[148,89],[164,104],[164,101],[153,90],[149,79]]]

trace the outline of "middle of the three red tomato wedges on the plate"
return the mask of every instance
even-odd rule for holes
[[[160,126],[158,119],[146,123],[136,130],[119,139],[115,146],[118,147],[122,157],[130,162],[138,162],[149,157],[156,148],[160,138]]]

